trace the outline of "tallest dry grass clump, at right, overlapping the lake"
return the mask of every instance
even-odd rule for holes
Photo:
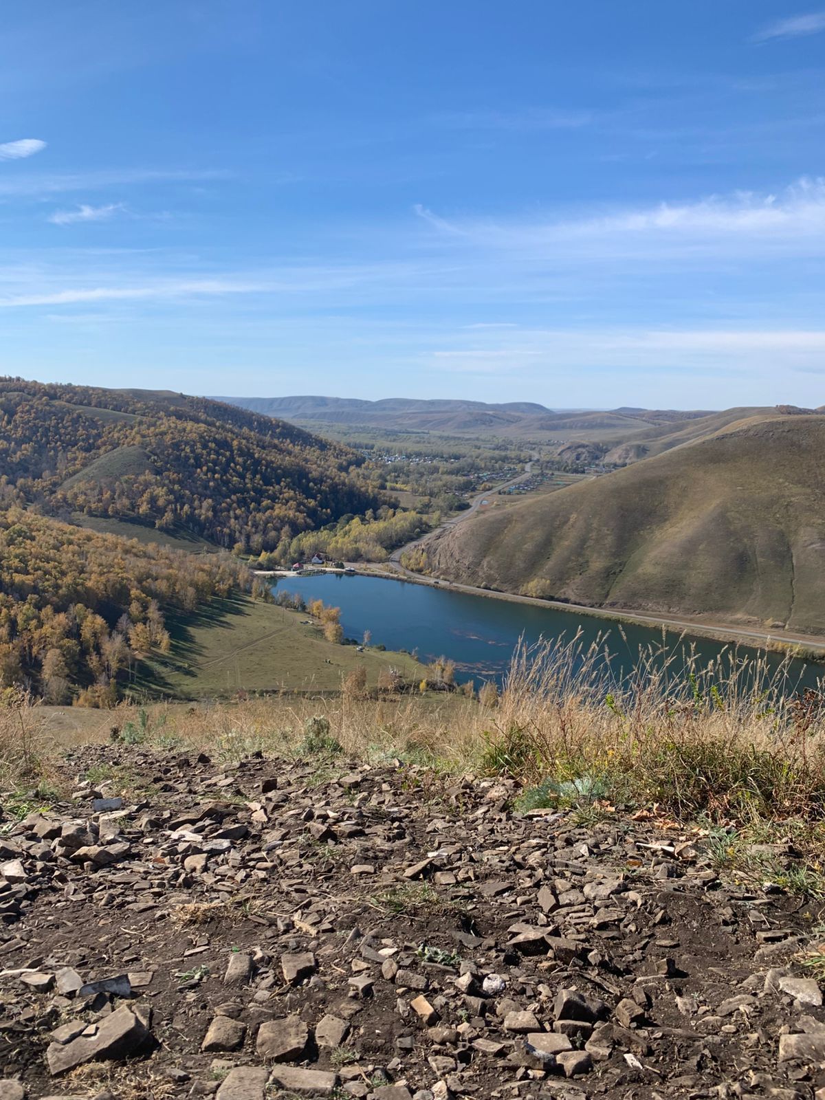
[[[519,646],[485,752],[527,783],[578,784],[680,814],[807,813],[825,802],[825,696],[785,659],[678,644],[629,673],[605,639]]]

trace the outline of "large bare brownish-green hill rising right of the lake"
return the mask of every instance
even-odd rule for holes
[[[429,568],[590,606],[825,631],[825,416],[737,411],[697,441],[440,534]]]

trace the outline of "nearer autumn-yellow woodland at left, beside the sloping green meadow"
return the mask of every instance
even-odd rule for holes
[[[229,554],[195,557],[0,510],[0,689],[111,704],[136,662],[168,648],[166,612],[193,613],[250,584]]]

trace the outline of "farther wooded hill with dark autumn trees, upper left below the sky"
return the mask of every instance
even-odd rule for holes
[[[0,496],[274,550],[381,501],[360,455],[206,398],[0,380]]]

